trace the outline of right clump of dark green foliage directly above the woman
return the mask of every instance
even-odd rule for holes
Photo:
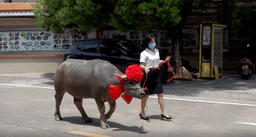
[[[150,30],[176,26],[182,19],[184,1],[125,0],[115,4],[111,25],[121,31]]]

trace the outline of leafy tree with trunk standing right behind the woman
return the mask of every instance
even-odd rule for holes
[[[115,5],[111,17],[111,25],[121,31],[129,29],[167,30],[169,37],[174,42],[173,56],[176,62],[176,78],[186,78],[181,57],[182,28],[186,17],[192,13],[192,9],[203,8],[203,0],[175,1],[175,0],[126,0],[119,1]],[[191,79],[191,77],[189,77]]]

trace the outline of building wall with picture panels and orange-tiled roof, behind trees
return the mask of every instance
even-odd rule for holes
[[[117,30],[105,30],[100,33],[97,29],[92,29],[90,33],[84,35],[69,32],[54,34],[43,31],[37,26],[35,16],[31,11],[35,2],[35,0],[0,1],[0,54],[38,54],[39,52],[63,54],[72,42],[90,38],[120,37],[141,44],[146,33],[154,34],[157,48],[162,52],[171,52],[172,40],[166,35],[165,30],[148,32],[131,30],[125,33],[120,33]],[[216,15],[212,14],[216,11],[214,4],[209,7],[205,13],[195,12],[189,16],[182,30],[184,55],[194,67],[198,67],[199,62],[200,23],[217,21]],[[255,39],[255,34],[251,30],[225,29],[224,49],[243,47],[248,41],[255,43]]]

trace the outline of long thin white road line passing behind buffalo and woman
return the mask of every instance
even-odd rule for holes
[[[4,83],[0,83],[0,85],[24,86],[24,87],[36,87],[36,88],[54,89],[54,87],[46,87],[46,86],[30,86],[30,85],[16,85],[16,84],[4,84]],[[157,98],[157,97],[149,96],[149,98]],[[167,97],[164,97],[164,99],[181,100],[181,101],[192,101],[192,102],[216,103],[216,104],[242,105],[242,106],[256,106],[256,105],[253,105],[253,104],[229,103],[229,102],[206,101],[206,100],[192,100],[192,99],[178,99],[178,98],[167,98]]]

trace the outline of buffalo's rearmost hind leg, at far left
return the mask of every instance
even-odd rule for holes
[[[61,112],[60,112],[60,105],[62,103],[62,99],[65,92],[56,92],[55,94],[55,102],[56,102],[56,108],[55,108],[55,120],[62,120]]]

